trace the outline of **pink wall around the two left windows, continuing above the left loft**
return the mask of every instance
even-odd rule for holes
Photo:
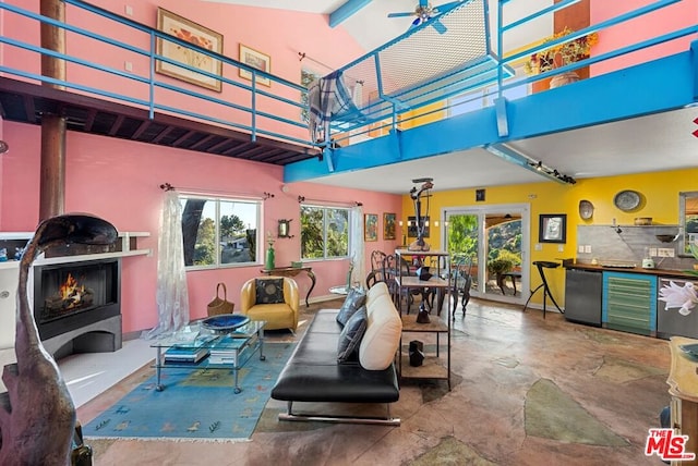
[[[38,9],[38,1],[31,5],[25,0],[9,1],[22,8]],[[225,54],[231,58],[238,57],[239,42],[264,51],[272,57],[272,72],[296,83],[300,82],[301,66],[313,69],[312,63],[299,61],[299,51],[336,66],[363,53],[341,27],[330,29],[326,17],[314,14],[190,0],[139,0],[128,3],[93,0],[92,3],[121,15],[124,14],[124,4],[130,4],[133,8],[132,19],[151,25],[155,25],[156,8],[166,8],[221,33],[225,36]],[[94,23],[94,16],[69,7],[68,21],[71,24],[85,21]],[[35,42],[38,40],[38,26],[16,21],[16,16],[12,21],[5,17],[2,27],[9,36]],[[99,33],[107,36],[131,39],[122,37],[122,29],[113,25],[99,23],[97,27]],[[104,60],[106,65],[122,66],[122,57],[115,56],[111,50],[99,49],[94,44],[88,45],[69,37],[69,47],[82,49],[84,53]],[[7,47],[2,52],[5,64],[32,72],[38,70],[38,59],[35,57]],[[139,72],[142,63],[134,61],[133,64],[134,72]],[[318,69],[314,71],[318,74],[329,72]],[[86,83],[98,82],[100,86],[123,87],[122,83],[98,77],[93,72],[77,68],[69,69],[69,78]],[[232,90],[226,88],[224,97],[228,96],[226,93]],[[7,121],[0,124],[3,138],[11,148],[10,152],[0,157],[0,231],[33,231],[38,222],[40,127]],[[125,332],[149,329],[157,323],[155,290],[157,237],[164,198],[159,188],[161,183],[171,183],[182,191],[217,195],[229,193],[262,196],[264,192],[273,193],[275,197],[264,203],[263,231],[276,231],[278,219],[293,219],[291,234],[296,235],[290,240],[277,240],[278,265],[290,265],[291,260],[300,257],[299,195],[327,201],[361,201],[366,213],[380,216],[381,230],[383,212],[395,212],[397,218],[402,217],[401,199],[396,195],[335,187],[328,189],[327,186],[311,183],[290,184],[288,192],[282,193],[282,169],[274,165],[80,133],[69,133],[67,154],[65,211],[91,212],[111,221],[120,231],[146,231],[152,234],[151,237],[139,241],[140,248],[153,249],[152,256],[123,259]],[[399,240],[399,229],[397,234]],[[397,243],[398,241],[386,242],[381,238],[378,242],[368,243],[366,262],[373,249],[389,252]],[[328,295],[330,286],[345,283],[348,268],[346,260],[316,261],[312,262],[312,267],[317,275],[313,296]],[[215,294],[215,284],[220,281],[227,284],[229,297],[238,302],[240,285],[258,275],[261,266],[188,272],[191,317],[205,315],[206,304]],[[310,281],[304,275],[298,275],[297,279],[304,295]]]

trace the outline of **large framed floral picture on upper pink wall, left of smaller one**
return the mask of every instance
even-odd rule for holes
[[[157,9],[157,29],[201,48],[222,53],[221,34],[163,8]],[[222,75],[222,62],[220,60],[164,38],[157,38],[156,53],[207,73]],[[155,71],[219,93],[222,88],[222,83],[215,77],[206,76],[163,60],[156,60]]]

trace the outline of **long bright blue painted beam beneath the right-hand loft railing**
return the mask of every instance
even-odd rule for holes
[[[326,163],[316,159],[288,164],[284,180],[312,181],[332,173],[417,160],[696,105],[694,47],[671,57],[507,101],[508,136],[498,134],[497,118],[501,115],[495,107],[488,107],[337,149],[332,172]]]

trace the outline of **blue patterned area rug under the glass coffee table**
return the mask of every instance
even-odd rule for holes
[[[83,426],[83,434],[93,439],[246,440],[293,347],[294,343],[265,342],[266,360],[255,354],[239,371],[239,394],[233,392],[234,376],[229,369],[163,369],[164,391],[155,390],[154,375]]]

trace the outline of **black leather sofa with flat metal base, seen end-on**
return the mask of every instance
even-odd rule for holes
[[[396,312],[397,315],[392,306],[392,301],[389,303],[392,309],[383,311]],[[385,305],[382,306],[385,307]],[[272,390],[274,400],[288,402],[287,413],[279,414],[279,420],[321,420],[398,426],[400,419],[392,417],[389,408],[389,404],[397,402],[400,396],[395,363],[390,363],[383,370],[365,369],[359,360],[338,363],[337,344],[342,330],[336,320],[338,312],[339,309],[322,309],[316,314],[286,367],[281,370],[276,385]],[[371,324],[378,324],[380,320],[380,318],[369,318],[369,328]],[[381,335],[381,338],[386,340],[385,335]],[[399,335],[397,338],[399,344]],[[305,415],[293,413],[293,402],[385,403],[387,414],[385,417]]]

